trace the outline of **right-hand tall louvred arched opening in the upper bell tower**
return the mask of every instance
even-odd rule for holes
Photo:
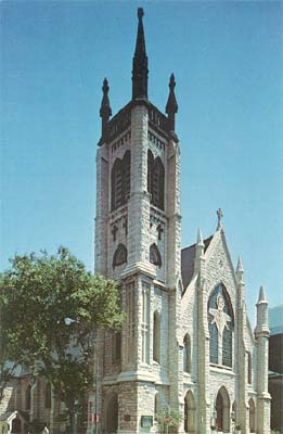
[[[147,191],[151,193],[151,203],[164,209],[164,179],[165,169],[162,159],[154,158],[151,150],[147,151]]]

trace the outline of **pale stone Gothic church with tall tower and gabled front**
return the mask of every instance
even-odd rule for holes
[[[181,250],[176,81],[163,113],[149,100],[147,76],[140,8],[132,99],[112,117],[106,79],[102,88],[95,272],[119,282],[126,321],[99,336],[90,412],[99,433],[166,432],[179,414],[179,433],[267,434],[266,295],[261,288],[253,330],[221,209],[215,233],[204,240],[198,230]]]

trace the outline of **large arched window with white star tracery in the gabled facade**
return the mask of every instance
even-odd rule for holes
[[[231,301],[224,285],[219,284],[208,301],[210,363],[232,367],[233,327]]]

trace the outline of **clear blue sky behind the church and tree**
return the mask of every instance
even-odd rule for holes
[[[282,2],[2,2],[0,269],[60,244],[93,268],[101,86],[113,114],[131,98],[138,7],[160,110],[177,80],[182,246],[221,207],[253,317],[261,284],[283,298]]]

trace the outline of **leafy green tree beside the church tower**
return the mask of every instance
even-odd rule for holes
[[[124,320],[117,284],[86,272],[67,248],[11,259],[0,279],[1,365],[12,360],[44,375],[67,407],[70,432],[93,387],[93,339]],[[5,370],[2,378],[7,382]],[[2,383],[3,385],[3,383]]]

